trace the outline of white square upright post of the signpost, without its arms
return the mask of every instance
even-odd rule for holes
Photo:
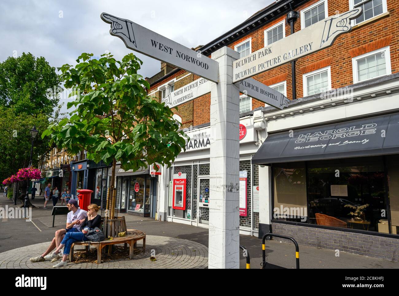
[[[209,268],[239,268],[239,86],[233,84],[233,61],[239,53],[223,47],[219,83],[211,83]]]

